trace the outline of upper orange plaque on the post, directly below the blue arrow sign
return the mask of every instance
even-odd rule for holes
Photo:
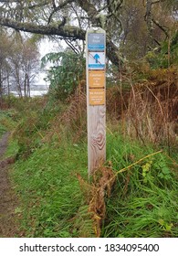
[[[105,87],[105,71],[89,70],[89,88]]]

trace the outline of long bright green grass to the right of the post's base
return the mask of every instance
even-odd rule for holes
[[[111,134],[108,140],[112,145],[108,158],[115,171],[125,165],[131,168],[118,172],[112,196],[107,201],[102,236],[177,237],[178,165],[162,152],[152,156],[152,148],[122,140],[117,133]],[[137,161],[141,157],[143,160]]]

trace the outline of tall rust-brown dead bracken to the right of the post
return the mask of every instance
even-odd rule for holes
[[[107,110],[120,119],[123,134],[142,144],[159,144],[173,155],[178,149],[177,67],[149,70],[141,81],[137,75],[133,70],[120,74],[120,83],[107,91]]]

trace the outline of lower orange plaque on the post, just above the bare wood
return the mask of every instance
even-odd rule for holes
[[[89,105],[104,105],[105,90],[104,89],[89,89]]]

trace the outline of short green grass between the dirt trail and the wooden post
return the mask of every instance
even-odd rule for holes
[[[78,236],[71,219],[82,193],[76,172],[87,174],[85,144],[45,144],[26,161],[16,163],[14,180],[27,237]]]

